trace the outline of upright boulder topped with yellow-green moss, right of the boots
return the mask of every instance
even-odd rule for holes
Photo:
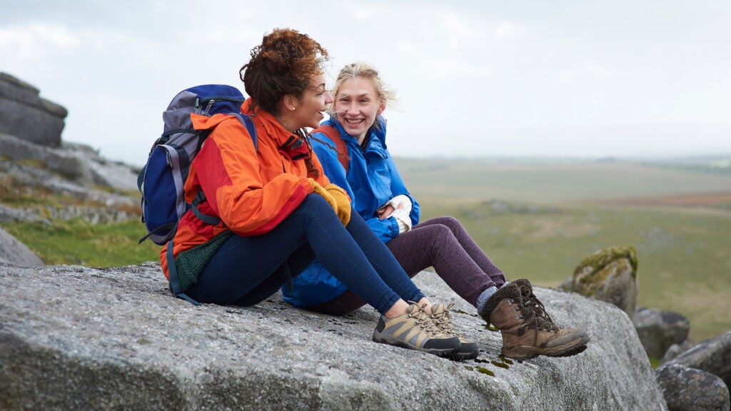
[[[637,249],[611,246],[589,254],[560,288],[612,303],[632,318],[637,306]]]

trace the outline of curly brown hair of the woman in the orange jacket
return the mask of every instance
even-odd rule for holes
[[[302,97],[313,75],[323,71],[329,56],[318,42],[294,29],[274,29],[251,49],[251,59],[238,72],[255,105],[277,114],[287,94]]]

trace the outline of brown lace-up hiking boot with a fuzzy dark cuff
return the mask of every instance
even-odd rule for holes
[[[568,357],[586,350],[589,341],[581,328],[562,330],[553,323],[527,279],[501,287],[485,303],[480,316],[500,330],[502,355],[509,358]]]

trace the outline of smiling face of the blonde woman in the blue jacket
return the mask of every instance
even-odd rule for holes
[[[362,76],[344,80],[335,94],[338,121],[348,135],[362,143],[376,116],[385,110],[385,102],[379,102],[373,83]]]

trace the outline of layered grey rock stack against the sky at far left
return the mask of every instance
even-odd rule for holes
[[[0,132],[41,146],[61,146],[68,112],[39,94],[38,88],[0,72]]]

